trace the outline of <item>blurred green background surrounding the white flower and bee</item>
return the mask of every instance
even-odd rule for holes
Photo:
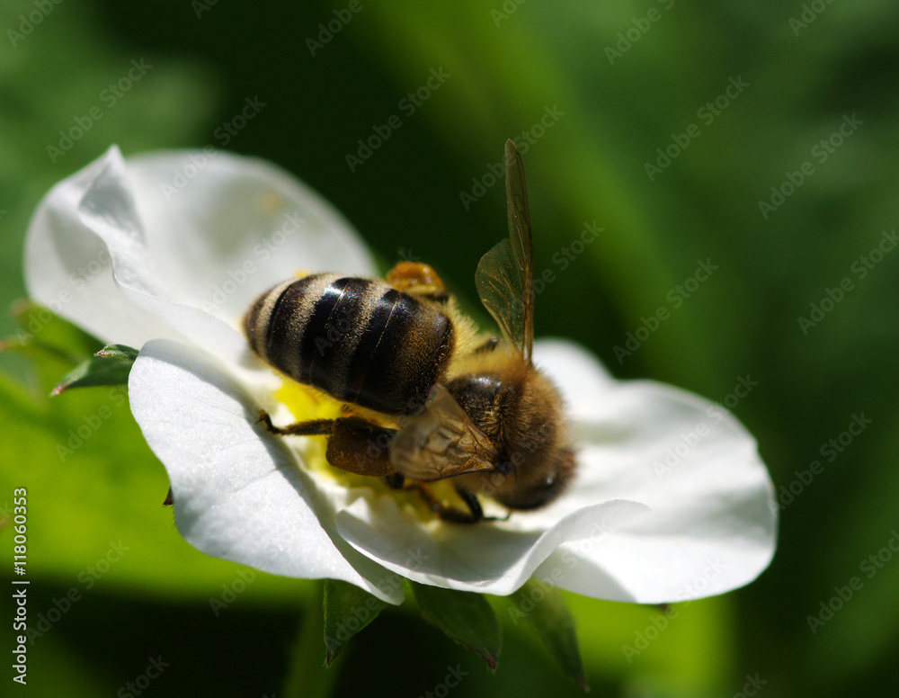
[[[330,39],[319,36],[328,22],[339,30]],[[594,693],[895,688],[899,560],[882,549],[899,528],[899,252],[871,254],[899,219],[895,4],[4,0],[0,29],[4,308],[24,295],[22,240],[53,183],[111,143],[126,155],[225,146],[217,129],[246,98],[265,106],[227,149],[284,166],[386,264],[431,261],[473,302],[505,201],[502,186],[467,205],[460,194],[500,161],[505,139],[555,110],[524,155],[537,270],[556,272],[538,335],[573,337],[619,377],[733,404],[779,491],[793,490],[760,579],[681,604],[629,660],[625,646],[658,611],[569,595]],[[113,99],[104,90],[132,60],[152,67]],[[449,77],[410,115],[402,100],[432,69]],[[93,108],[102,118],[51,157],[58,131]],[[393,115],[402,126],[351,171],[357,140]],[[594,221],[601,236],[563,271],[556,255]],[[699,260],[717,270],[690,282]],[[824,300],[845,278],[852,290]],[[812,304],[829,309],[823,319]],[[616,352],[659,308],[670,318],[632,355]],[[15,331],[5,313],[0,329]],[[96,348],[66,327],[52,333]],[[279,692],[313,587],[259,574],[213,613],[210,599],[231,599],[243,568],[177,535],[160,506],[165,471],[127,408],[108,389],[47,398],[62,359],[43,360],[38,377],[11,353],[0,368],[0,504],[28,488],[29,611],[57,619],[29,649],[31,694],[124,695],[149,658],[170,666],[147,695]],[[758,385],[734,404],[741,378]],[[57,443],[103,406],[100,435],[61,459]],[[872,423],[840,443],[862,415]],[[10,550],[12,532],[0,536]],[[103,563],[115,546],[128,550]],[[878,551],[877,567],[866,563]],[[863,586],[813,633],[808,617],[852,577]],[[334,695],[425,694],[457,664],[469,672],[452,689],[460,697],[578,694],[532,636],[505,631],[491,676],[409,608],[388,611],[332,668]]]

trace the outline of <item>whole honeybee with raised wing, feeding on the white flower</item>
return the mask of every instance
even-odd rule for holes
[[[416,489],[443,520],[485,519],[478,497],[509,510],[545,506],[571,481],[562,399],[535,366],[533,250],[521,155],[505,145],[509,237],[477,265],[476,287],[503,336],[479,335],[427,264],[384,281],[314,273],[263,293],[244,328],[254,353],[344,403],[336,419],[276,426],[327,435],[330,465]],[[427,483],[452,479],[464,511]]]

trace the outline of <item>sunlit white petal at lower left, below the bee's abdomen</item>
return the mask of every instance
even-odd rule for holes
[[[175,524],[191,545],[271,574],[343,579],[402,602],[399,579],[341,540],[333,503],[294,452],[255,424],[253,401],[220,365],[171,341],[148,342],[131,369],[129,400],[168,471]]]

